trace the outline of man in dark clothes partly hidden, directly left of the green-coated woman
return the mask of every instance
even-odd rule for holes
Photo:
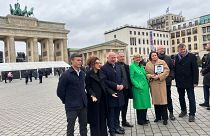
[[[118,53],[117,64],[119,64],[121,66],[122,75],[123,75],[123,85],[125,86],[123,89],[125,104],[122,107],[122,111],[121,111],[122,126],[133,127],[133,125],[131,125],[126,119],[128,102],[129,102],[129,99],[132,98],[132,89],[131,89],[129,66],[127,64],[125,64],[125,53],[124,52]]]

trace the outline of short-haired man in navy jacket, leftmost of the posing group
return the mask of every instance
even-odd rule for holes
[[[80,70],[82,57],[72,54],[71,67],[59,78],[57,96],[65,104],[67,116],[67,136],[74,136],[76,118],[79,119],[80,135],[87,136],[87,96],[85,72]]]

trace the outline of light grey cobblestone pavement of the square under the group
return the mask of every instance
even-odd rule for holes
[[[64,106],[56,96],[57,82],[57,77],[44,79],[43,84],[33,81],[25,85],[24,80],[14,80],[7,84],[0,82],[0,136],[66,135],[66,115]],[[180,112],[178,94],[176,88],[172,87],[176,120],[169,120],[167,126],[162,122],[153,122],[154,108],[148,110],[150,124],[137,125],[136,113],[130,102],[127,119],[134,127],[125,128],[125,136],[210,135],[210,111],[198,106],[203,102],[202,87],[197,87],[195,93],[196,120],[188,122],[188,117],[178,118]],[[79,135],[78,124],[75,129],[75,135]]]

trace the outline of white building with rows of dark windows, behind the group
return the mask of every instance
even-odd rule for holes
[[[125,25],[104,33],[105,41],[118,39],[126,44],[126,57],[128,63],[132,62],[134,54],[139,53],[145,60],[148,59],[151,50],[158,45],[164,45],[166,54],[170,54],[170,33],[163,30]]]

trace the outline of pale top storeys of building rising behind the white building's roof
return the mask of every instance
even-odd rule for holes
[[[167,13],[162,16],[151,18],[147,21],[147,27],[157,30],[170,31],[173,24],[184,22],[185,18],[182,15]]]

